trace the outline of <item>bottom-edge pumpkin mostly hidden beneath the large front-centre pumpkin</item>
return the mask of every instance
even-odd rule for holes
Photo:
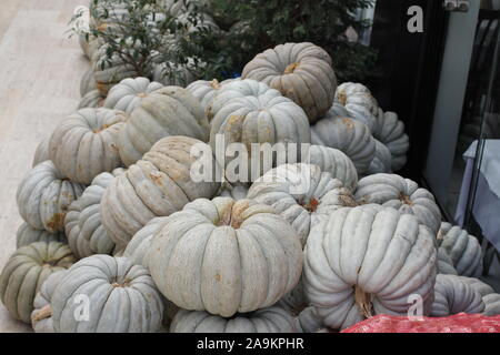
[[[181,310],[170,325],[171,333],[299,333],[293,317],[272,306],[231,318],[203,311]]]

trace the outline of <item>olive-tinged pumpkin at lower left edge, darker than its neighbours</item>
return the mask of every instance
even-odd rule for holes
[[[67,244],[37,242],[17,250],[0,274],[0,300],[10,315],[31,323],[33,300],[50,274],[76,262]]]

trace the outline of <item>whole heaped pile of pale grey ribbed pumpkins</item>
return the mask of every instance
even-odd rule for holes
[[[192,148],[217,134],[312,143],[310,159],[251,184],[194,182]],[[407,149],[397,115],[338,87],[312,43],[221,83],[123,79],[39,145],[1,302],[36,332],[339,331],[416,300],[423,315],[499,314],[477,239],[390,173]]]

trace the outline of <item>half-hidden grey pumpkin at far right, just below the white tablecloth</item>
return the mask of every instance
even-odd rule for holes
[[[478,239],[448,222],[441,223],[439,247],[450,255],[458,274],[479,277],[482,274],[482,252]]]

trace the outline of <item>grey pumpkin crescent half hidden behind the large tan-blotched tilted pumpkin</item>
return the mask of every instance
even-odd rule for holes
[[[70,204],[64,219],[64,232],[78,258],[113,252],[116,245],[102,225],[100,203],[106,187],[121,173],[122,170],[116,170],[113,174],[97,175],[82,195]]]

